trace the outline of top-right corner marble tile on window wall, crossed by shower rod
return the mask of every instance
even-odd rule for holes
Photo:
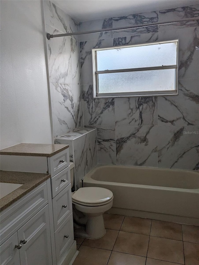
[[[176,21],[180,19],[186,19],[198,16],[199,16],[199,5],[171,8],[159,11],[160,22]],[[196,27],[196,26],[199,26],[199,21],[178,22],[168,25],[160,25],[159,31],[182,29],[182,28]]]

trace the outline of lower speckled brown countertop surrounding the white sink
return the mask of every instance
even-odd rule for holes
[[[2,211],[50,178],[50,174],[0,171],[0,177],[1,182],[4,183],[23,184],[18,189],[0,199],[0,211]]]

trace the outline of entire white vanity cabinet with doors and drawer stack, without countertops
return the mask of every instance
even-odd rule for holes
[[[50,157],[3,154],[1,158],[5,171],[51,174],[1,213],[1,264],[69,264],[76,254],[69,148]]]

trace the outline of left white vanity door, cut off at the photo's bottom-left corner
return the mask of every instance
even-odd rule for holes
[[[20,265],[17,232],[0,247],[1,265]]]

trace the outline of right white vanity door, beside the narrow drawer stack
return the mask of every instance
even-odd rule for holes
[[[22,245],[19,250],[21,265],[52,265],[48,205],[24,224],[17,233],[19,243]]]

